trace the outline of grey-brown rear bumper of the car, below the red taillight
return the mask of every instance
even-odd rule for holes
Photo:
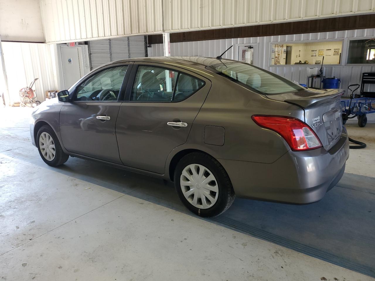
[[[288,151],[271,164],[219,159],[239,197],[305,204],[323,198],[341,179],[349,157],[345,129],[333,148]]]

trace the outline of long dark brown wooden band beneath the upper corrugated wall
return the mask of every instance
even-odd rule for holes
[[[357,16],[311,19],[307,21],[280,22],[275,24],[248,25],[171,33],[171,43],[243,37],[278,36],[340,30],[375,28],[375,13]],[[148,44],[163,43],[161,34],[148,35]]]

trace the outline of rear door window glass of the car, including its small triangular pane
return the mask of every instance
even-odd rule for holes
[[[181,101],[204,85],[196,77],[154,66],[139,66],[130,100],[139,102]]]

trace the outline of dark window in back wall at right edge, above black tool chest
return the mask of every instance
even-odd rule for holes
[[[350,40],[348,64],[375,63],[375,39]]]

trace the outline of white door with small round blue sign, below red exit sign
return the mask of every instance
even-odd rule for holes
[[[81,78],[81,66],[77,47],[61,47],[61,60],[65,89]]]

